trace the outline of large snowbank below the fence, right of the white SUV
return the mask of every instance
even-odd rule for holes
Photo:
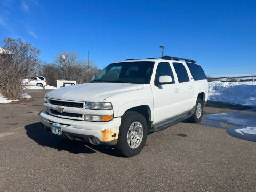
[[[256,106],[256,82],[209,82],[209,100]]]

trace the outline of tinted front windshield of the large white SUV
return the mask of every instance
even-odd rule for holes
[[[149,84],[154,62],[112,63],[103,69],[92,82]]]

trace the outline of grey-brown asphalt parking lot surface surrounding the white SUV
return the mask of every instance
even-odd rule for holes
[[[63,140],[39,122],[44,94],[0,105],[0,191],[255,191],[255,142],[182,122],[148,135],[132,158]],[[247,109],[209,102],[205,114]]]

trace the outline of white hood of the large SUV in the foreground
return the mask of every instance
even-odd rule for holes
[[[143,84],[84,83],[55,89],[46,93],[45,97],[69,101],[103,102],[111,95],[142,88]]]

